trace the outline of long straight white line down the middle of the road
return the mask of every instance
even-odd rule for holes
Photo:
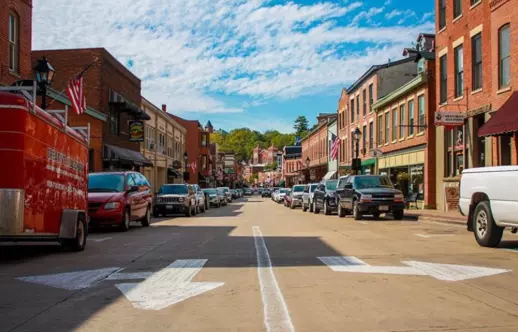
[[[270,253],[259,226],[253,226],[255,252],[257,254],[257,275],[261,285],[264,306],[264,325],[267,331],[295,331],[288,306],[273,273]]]

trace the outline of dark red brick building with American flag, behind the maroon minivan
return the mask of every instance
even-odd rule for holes
[[[152,166],[140,152],[140,143],[130,141],[129,122],[149,119],[140,108],[140,79],[104,48],[33,51],[33,66],[43,56],[56,70],[52,86],[59,91],[98,59],[84,76],[84,91],[87,104],[103,114],[107,121],[94,121],[86,115],[69,112],[70,125],[90,123],[90,170],[143,171],[144,167]]]

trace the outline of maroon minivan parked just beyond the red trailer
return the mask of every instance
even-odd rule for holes
[[[119,226],[127,231],[130,221],[148,227],[152,193],[146,177],[138,172],[101,172],[88,175],[90,225]]]

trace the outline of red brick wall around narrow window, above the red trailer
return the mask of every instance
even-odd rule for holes
[[[18,16],[18,73],[9,70],[9,13]],[[32,0],[0,0],[0,22],[0,85],[32,78]]]

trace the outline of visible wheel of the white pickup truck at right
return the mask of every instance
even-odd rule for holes
[[[504,228],[495,224],[488,201],[482,201],[477,204],[472,222],[475,239],[480,246],[496,247],[500,244]]]

